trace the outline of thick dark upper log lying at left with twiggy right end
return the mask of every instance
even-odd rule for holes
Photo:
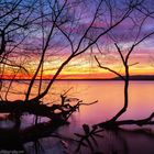
[[[65,98],[66,99],[66,98]],[[25,112],[50,118],[53,121],[67,121],[67,119],[72,116],[73,112],[77,111],[80,106],[90,106],[96,103],[82,103],[81,100],[77,100],[75,105],[72,102],[65,101],[61,105],[47,106],[42,103],[41,101],[33,102],[24,102],[22,100],[15,101],[0,101],[0,112],[2,113],[19,113],[23,114]]]

